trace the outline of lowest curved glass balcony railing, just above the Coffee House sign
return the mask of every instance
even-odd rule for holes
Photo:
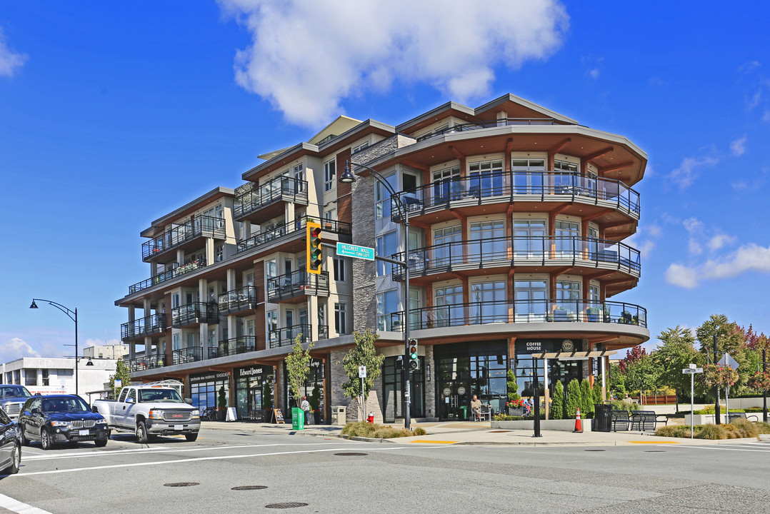
[[[393,330],[403,329],[403,311],[393,312]],[[599,300],[491,300],[411,309],[411,330],[490,323],[585,322],[647,326],[647,310],[639,305]]]

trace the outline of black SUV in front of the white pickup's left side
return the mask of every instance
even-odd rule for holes
[[[43,449],[57,442],[93,441],[105,446],[109,438],[107,421],[75,395],[32,396],[18,416],[18,426],[23,445],[40,441]]]

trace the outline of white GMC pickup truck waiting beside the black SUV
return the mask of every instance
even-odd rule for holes
[[[182,400],[179,392],[163,383],[126,386],[116,400],[94,400],[92,409],[99,412],[110,429],[133,432],[139,442],[152,436],[183,435],[188,441],[198,439],[200,412]]]

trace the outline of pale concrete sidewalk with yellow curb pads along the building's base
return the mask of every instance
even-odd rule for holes
[[[393,424],[393,426],[398,426]],[[657,437],[652,432],[563,432],[543,430],[541,437],[533,437],[532,430],[492,429],[489,422],[423,422],[420,426],[427,435],[399,437],[396,439],[353,438],[357,441],[393,442],[396,444],[444,444],[444,445],[511,445],[511,446],[631,446],[648,444],[671,445],[720,445],[756,442],[757,439],[685,439]],[[342,437],[341,426],[310,425],[303,430],[293,430],[291,423],[273,425],[269,423],[246,422],[203,422],[204,430],[224,430],[236,433],[283,434],[286,436],[317,436],[326,438]],[[760,436],[770,441],[770,436]]]

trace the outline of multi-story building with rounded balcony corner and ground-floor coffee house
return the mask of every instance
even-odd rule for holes
[[[328,419],[330,406],[350,402],[340,389],[350,333],[372,328],[386,359],[367,410],[392,422],[403,417],[397,367],[409,322],[420,341],[411,416],[467,419],[473,395],[504,409],[509,369],[531,395],[533,356],[550,389],[593,379],[611,352],[649,339],[646,311],[611,299],[641,273],[622,241],[637,228],[632,186],[647,158],[622,136],[505,95],[397,126],[341,116],[260,157],[246,184],[142,232],[149,278],[116,302],[129,311],[133,379],[181,379],[201,408],[224,388],[239,416],[258,417],[290,405],[283,358],[302,334],[317,342],[306,390],[319,389]],[[343,184],[348,161],[357,180]],[[323,273],[307,274],[308,220],[326,241],[407,262],[409,305],[397,265],[330,250]]]

